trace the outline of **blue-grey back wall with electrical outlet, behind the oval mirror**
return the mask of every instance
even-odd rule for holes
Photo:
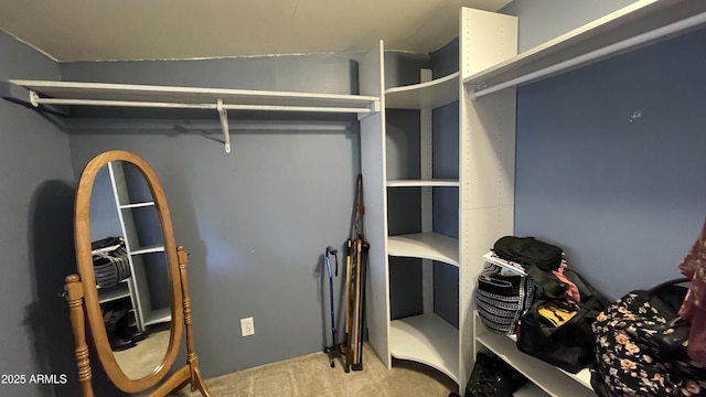
[[[61,69],[65,81],[355,94],[356,56],[69,63]],[[418,81],[417,65],[428,63],[426,55],[386,57],[396,65],[388,71],[396,82]],[[154,168],[176,242],[190,253],[195,345],[204,375],[330,344],[322,254],[328,245],[342,248],[350,234],[360,172],[355,116],[229,111],[233,152],[226,154],[215,111],[121,114],[128,116],[121,128],[111,119],[74,128],[74,171],[78,175],[93,155],[110,149],[136,152]],[[174,127],[194,120],[206,129]],[[336,297],[342,281],[341,276],[335,280]],[[336,299],[339,314],[341,302]],[[242,337],[239,319],[247,316],[254,318],[256,332]]]

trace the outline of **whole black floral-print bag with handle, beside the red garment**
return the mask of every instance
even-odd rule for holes
[[[688,326],[678,321],[687,280],[632,291],[600,313],[591,373],[600,396],[706,396],[706,371],[686,354]]]

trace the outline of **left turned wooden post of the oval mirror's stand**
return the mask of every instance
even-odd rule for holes
[[[76,343],[76,365],[78,367],[78,382],[84,397],[93,397],[90,385],[90,361],[88,360],[88,345],[86,344],[86,320],[84,316],[84,288],[81,285],[78,275],[66,277],[66,301],[71,314],[71,324],[74,329],[74,341]]]

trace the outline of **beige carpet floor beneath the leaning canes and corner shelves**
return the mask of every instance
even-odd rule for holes
[[[363,371],[344,373],[340,362],[329,366],[324,353],[206,379],[213,397],[447,397],[457,384],[425,365],[394,361],[387,369],[365,346]],[[195,397],[190,387],[175,396]]]

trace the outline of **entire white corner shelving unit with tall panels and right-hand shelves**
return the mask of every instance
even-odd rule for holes
[[[458,181],[435,180],[425,174],[424,160],[419,180],[388,180],[385,112],[361,121],[361,160],[367,179],[364,184],[370,273],[376,280],[368,290],[370,341],[387,365],[392,365],[393,356],[428,364],[457,380],[462,390],[474,363],[474,352],[484,346],[523,368],[526,365],[525,375],[536,384],[528,389],[534,387],[539,395],[592,395],[584,387],[585,377],[552,375],[568,379],[558,380],[565,383],[563,386],[552,386],[553,380],[534,368],[556,368],[516,355],[510,339],[485,334],[475,324],[472,296],[483,260],[488,259],[482,257],[498,238],[514,229],[515,88],[706,26],[705,11],[706,2],[702,1],[640,0],[517,55],[516,18],[462,8],[458,74],[385,89],[382,44],[365,57],[361,63],[361,92],[379,95],[383,109],[424,109],[459,101]],[[458,94],[453,93],[457,78]],[[424,128],[422,121],[422,150],[427,139]],[[424,226],[418,236],[388,236],[387,192],[398,187],[420,187],[424,192],[429,186],[458,189],[459,238],[448,244],[450,249],[426,242],[425,236],[434,235]],[[443,333],[430,331],[443,320],[427,312],[389,321],[391,256],[447,258],[441,260],[458,266],[458,330],[451,326]],[[405,342],[398,344],[398,340]],[[453,342],[449,347],[450,340]]]

